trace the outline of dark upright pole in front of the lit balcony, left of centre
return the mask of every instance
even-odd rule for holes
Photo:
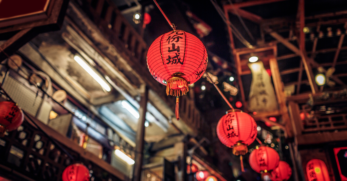
[[[135,140],[136,147],[135,147],[135,165],[134,165],[133,181],[141,180],[147,101],[148,101],[148,87],[147,85],[143,84],[141,85],[141,101],[140,101],[140,109],[138,110],[140,117],[138,118],[137,134],[136,134],[136,140]]]

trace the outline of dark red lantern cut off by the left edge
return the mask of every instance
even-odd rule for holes
[[[17,129],[24,120],[24,113],[16,103],[10,101],[0,102],[0,137],[5,132]]]

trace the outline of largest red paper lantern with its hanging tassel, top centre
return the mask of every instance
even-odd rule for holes
[[[188,85],[204,74],[208,62],[205,46],[196,36],[182,30],[170,31],[154,40],[147,52],[147,67],[155,80],[166,85],[166,94],[188,92]]]

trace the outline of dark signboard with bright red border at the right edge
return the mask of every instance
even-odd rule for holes
[[[341,181],[347,181],[347,147],[334,148],[333,150]]]

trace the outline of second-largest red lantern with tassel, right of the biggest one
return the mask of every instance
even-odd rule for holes
[[[240,155],[241,170],[243,157],[248,152],[247,146],[254,142],[257,135],[257,124],[254,119],[245,112],[229,110],[217,124],[217,136],[225,145],[232,148],[232,153]]]

